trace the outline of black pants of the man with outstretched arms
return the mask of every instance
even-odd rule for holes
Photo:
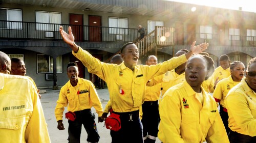
[[[112,143],[143,143],[142,124],[139,110],[132,112],[115,112],[120,115],[121,129],[110,131]]]

